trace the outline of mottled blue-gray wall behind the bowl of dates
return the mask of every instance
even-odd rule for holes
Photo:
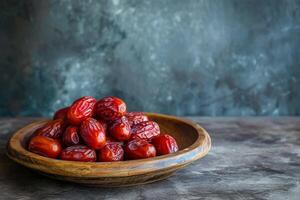
[[[116,95],[175,115],[299,115],[299,0],[2,0],[0,115]]]

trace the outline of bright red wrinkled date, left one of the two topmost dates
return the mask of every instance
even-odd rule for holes
[[[96,102],[97,100],[90,96],[84,96],[74,101],[67,112],[68,122],[78,126],[83,120],[92,117]]]

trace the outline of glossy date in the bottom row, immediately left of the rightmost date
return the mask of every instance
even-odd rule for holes
[[[155,147],[142,139],[135,139],[128,142],[124,147],[124,152],[126,158],[131,160],[156,156]]]

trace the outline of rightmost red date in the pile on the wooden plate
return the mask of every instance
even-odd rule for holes
[[[170,135],[153,137],[151,143],[154,145],[157,155],[165,155],[178,151],[176,140]]]

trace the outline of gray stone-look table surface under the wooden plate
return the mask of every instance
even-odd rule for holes
[[[91,188],[41,176],[9,160],[5,145],[36,118],[0,119],[0,199],[300,199],[300,117],[192,117],[210,133],[201,160],[160,182]]]

